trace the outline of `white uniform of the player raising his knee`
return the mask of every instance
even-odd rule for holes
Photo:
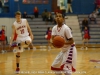
[[[30,42],[32,41],[31,38],[29,37],[29,32],[27,29],[27,24],[26,24],[27,20],[26,19],[21,19],[21,22],[14,22],[14,26],[16,29],[16,34],[17,34],[17,39],[16,42],[20,43],[20,42],[25,42],[26,40],[29,40]],[[23,49],[19,50],[17,48],[17,52],[23,52]]]

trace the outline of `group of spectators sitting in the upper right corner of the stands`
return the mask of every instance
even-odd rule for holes
[[[100,0],[95,0],[95,9],[92,13],[89,14],[88,18],[84,18],[82,21],[82,31],[84,30],[85,27],[89,29],[88,24],[91,24],[93,21],[95,24],[97,24],[97,17],[100,15]]]

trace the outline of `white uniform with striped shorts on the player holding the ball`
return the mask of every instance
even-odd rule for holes
[[[54,26],[52,29],[52,35],[62,36],[66,41],[72,38],[71,29],[63,24],[62,27]],[[76,47],[72,45],[64,45],[61,48],[61,52],[57,55],[54,62],[51,65],[51,70],[65,71],[65,75],[71,75],[72,71],[76,70]],[[59,74],[60,75],[60,74]]]

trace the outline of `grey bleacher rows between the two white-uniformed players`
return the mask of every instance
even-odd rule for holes
[[[54,25],[51,23],[46,25],[45,21],[42,21],[41,16],[39,16],[39,18],[34,18],[33,20],[28,19],[28,22],[34,34],[33,44],[47,45],[47,40],[45,39],[47,28],[53,27]]]

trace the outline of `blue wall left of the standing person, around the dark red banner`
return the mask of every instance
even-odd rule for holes
[[[22,13],[26,11],[28,14],[33,14],[33,8],[35,6],[39,8],[39,14],[41,14],[44,9],[51,11],[51,1],[52,0],[49,0],[48,4],[23,4],[22,0],[19,0],[19,2],[9,0],[7,3],[9,5],[9,13],[1,13],[0,17],[14,17],[14,13],[18,10],[20,10]]]

